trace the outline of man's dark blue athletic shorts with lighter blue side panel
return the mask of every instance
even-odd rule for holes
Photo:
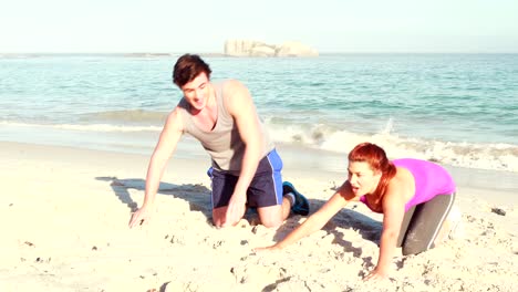
[[[248,207],[269,207],[282,204],[282,160],[276,149],[259,161],[256,175],[247,189]],[[238,176],[210,167],[207,175],[213,180],[213,209],[228,206]]]

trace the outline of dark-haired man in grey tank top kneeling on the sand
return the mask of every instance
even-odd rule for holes
[[[290,215],[309,213],[308,200],[282,182],[282,160],[260,122],[247,87],[236,80],[210,82],[211,70],[198,55],[180,56],[173,82],[184,97],[168,115],[149,161],[144,204],[130,227],[149,218],[166,163],[180,136],[197,138],[211,157],[213,222],[235,226],[247,207],[256,207],[261,223],[279,227]]]

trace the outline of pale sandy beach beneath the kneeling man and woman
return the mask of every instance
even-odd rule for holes
[[[372,283],[361,279],[377,260],[381,217],[363,205],[283,251],[256,254],[305,217],[270,230],[248,213],[237,227],[214,228],[208,158],[170,159],[155,216],[130,229],[148,156],[0,147],[0,291],[518,291],[516,174],[491,171],[481,188],[469,170],[454,171],[459,225],[452,239],[400,253],[392,279]],[[309,198],[311,212],[344,176],[284,164],[284,180]]]

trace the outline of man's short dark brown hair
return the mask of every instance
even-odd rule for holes
[[[203,72],[210,79],[213,71],[199,55],[184,54],[176,61],[175,69],[173,70],[173,82],[178,87],[182,87]]]

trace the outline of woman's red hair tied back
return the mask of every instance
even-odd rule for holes
[[[356,145],[356,147],[349,153],[349,161],[367,163],[372,170],[382,173],[380,182],[373,194],[377,200],[382,199],[385,195],[388,181],[391,181],[396,174],[396,168],[386,157],[385,150],[375,144],[362,143]]]

